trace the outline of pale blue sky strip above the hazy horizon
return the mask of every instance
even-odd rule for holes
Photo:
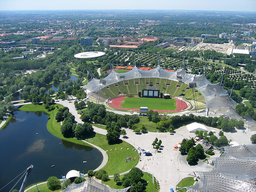
[[[70,9],[256,11],[256,0],[0,0],[0,10]]]

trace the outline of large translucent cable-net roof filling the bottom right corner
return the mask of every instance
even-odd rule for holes
[[[213,170],[197,172],[199,181],[188,192],[256,192],[256,144],[224,147],[221,157],[210,158]]]

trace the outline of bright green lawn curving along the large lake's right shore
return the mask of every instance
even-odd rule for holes
[[[56,106],[63,107],[62,105],[56,104]],[[20,107],[20,110],[22,111],[43,111],[48,114],[50,114],[50,120],[48,120],[47,123],[47,128],[48,130],[55,135],[56,137],[59,137],[63,140],[67,140],[70,142],[74,142],[77,144],[81,145],[87,145],[90,146],[89,144],[84,144],[83,141],[78,140],[77,138],[65,138],[61,135],[60,132],[60,123],[56,122],[55,120],[55,114],[57,113],[57,109],[53,111],[47,111],[44,107],[45,105],[34,105],[34,104],[28,104],[28,105],[23,105]],[[86,139],[88,142],[95,144],[96,146],[99,146],[103,150],[108,150],[108,163],[106,166],[104,166],[104,170],[108,172],[109,175],[113,175],[115,173],[122,173],[125,171],[130,170],[134,166],[137,165],[139,162],[139,154],[137,151],[133,151],[132,149],[134,148],[132,145],[128,144],[127,142],[122,141],[120,144],[115,144],[115,145],[109,145],[107,142],[106,135],[100,135],[96,134],[95,137],[93,138],[88,138]],[[117,148],[117,150],[115,150]],[[122,148],[122,150],[121,150]],[[129,148],[129,150],[127,150]],[[112,149],[112,150],[111,150]],[[111,151],[110,151],[111,150]],[[130,161],[129,163],[126,163],[126,157],[136,157],[137,159],[135,161]]]

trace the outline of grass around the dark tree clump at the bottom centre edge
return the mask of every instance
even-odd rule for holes
[[[154,178],[154,184],[153,184],[152,176],[148,173],[145,173],[145,172],[143,172],[143,174],[144,175],[143,175],[142,179],[145,180],[145,182],[143,181],[143,183],[148,182],[148,184],[144,184],[146,186],[145,191],[146,192],[158,192],[159,185],[157,185],[156,178]],[[122,177],[124,177],[124,175],[120,175],[120,179],[122,179]],[[111,177],[110,180],[107,181],[107,182],[102,181],[102,184],[107,184],[113,189],[122,189],[122,188],[124,188],[121,185],[116,185],[116,183],[114,181],[114,177]]]

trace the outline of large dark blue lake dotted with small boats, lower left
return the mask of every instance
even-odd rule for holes
[[[34,168],[28,177],[27,186],[35,181],[46,181],[50,176],[61,178],[73,169],[87,173],[101,164],[103,156],[96,148],[67,142],[52,135],[46,128],[47,118],[46,113],[18,109],[13,112],[8,125],[0,130],[0,188],[30,164]],[[55,167],[51,167],[53,164]],[[17,179],[1,192],[8,192]],[[23,179],[16,189],[19,190]]]

